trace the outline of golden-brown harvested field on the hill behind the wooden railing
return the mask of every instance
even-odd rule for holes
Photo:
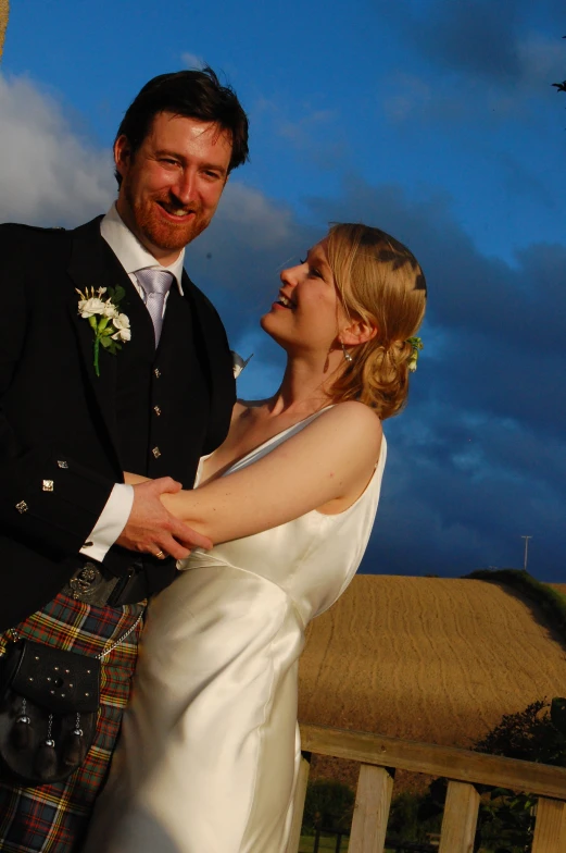
[[[309,627],[299,718],[468,747],[503,714],[556,695],[566,647],[512,588],[361,574]]]

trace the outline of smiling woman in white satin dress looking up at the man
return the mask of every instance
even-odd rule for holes
[[[365,225],[282,272],[262,318],[287,353],[280,388],[236,405],[196,491],[163,495],[214,547],[151,603],[86,853],[285,850],[304,629],[364,554],[425,304],[414,256]]]

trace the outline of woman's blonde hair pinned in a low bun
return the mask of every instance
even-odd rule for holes
[[[423,321],[427,286],[414,255],[379,228],[336,224],[326,254],[350,319],[377,329],[370,341],[350,348],[351,361],[331,387],[334,399],[357,399],[381,420],[397,415],[408,393],[408,363]]]

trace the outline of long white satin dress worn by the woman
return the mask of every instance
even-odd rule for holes
[[[355,574],[386,453],[383,438],[369,484],[345,511],[315,510],[196,551],[152,602],[131,704],[84,853],[285,851],[300,756],[304,629]]]

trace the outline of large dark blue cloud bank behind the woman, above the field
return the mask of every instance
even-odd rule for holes
[[[390,456],[364,570],[450,576],[520,566],[520,536],[529,533],[530,568],[558,580],[566,510],[566,248],[527,246],[510,265],[478,251],[445,197],[415,202],[399,187],[372,187],[354,177],[340,198],[310,199],[309,207],[319,230],[282,211],[285,233],[271,246],[259,221],[250,228],[218,218],[232,274],[230,296],[217,295],[232,335],[260,304],[263,310],[262,270],[318,239],[330,221],[389,231],[415,251],[430,288],[426,349],[410,405],[386,423]],[[243,248],[240,228],[253,233]],[[272,358],[268,349],[263,357]]]

